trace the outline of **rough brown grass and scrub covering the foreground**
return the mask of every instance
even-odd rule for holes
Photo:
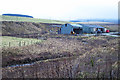
[[[38,61],[31,66],[3,68],[3,71],[5,71],[3,72],[4,77],[20,77],[23,71],[20,72],[18,70],[22,69],[26,71],[24,72],[24,77],[27,78],[36,77],[36,75],[28,74],[29,71],[33,71],[34,74],[37,74],[38,78],[110,77],[109,73],[111,70],[114,73],[112,77],[116,77],[118,38],[105,36],[92,36],[87,38],[75,37],[71,39],[48,38],[45,42],[40,44],[4,49],[3,54],[4,63],[10,61],[12,63],[13,60],[22,60],[24,63],[26,58],[28,61],[36,58],[39,61],[46,60]],[[76,56],[76,58],[72,58],[73,56]],[[3,66],[6,65],[4,64]],[[39,70],[35,72],[36,69]],[[18,71],[19,74],[15,71]],[[11,73],[12,76],[7,75],[8,72]],[[15,73],[16,76],[13,75]]]

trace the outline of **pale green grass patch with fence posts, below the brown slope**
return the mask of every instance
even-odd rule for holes
[[[42,40],[32,39],[32,38],[16,38],[9,36],[0,36],[2,43],[0,47],[16,47],[16,46],[26,46],[35,43],[42,42]]]

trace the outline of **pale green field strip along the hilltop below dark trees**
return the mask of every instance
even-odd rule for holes
[[[35,22],[35,23],[41,22],[41,23],[55,23],[55,24],[71,23],[71,22],[59,21],[59,20],[15,17],[15,16],[2,16],[2,15],[0,15],[0,21],[21,21],[21,22]]]

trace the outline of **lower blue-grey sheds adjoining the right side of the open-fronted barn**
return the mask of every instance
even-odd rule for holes
[[[80,24],[80,25],[82,25],[83,33],[96,33],[98,29],[102,33],[106,32],[106,28],[99,25],[86,25],[86,24]]]

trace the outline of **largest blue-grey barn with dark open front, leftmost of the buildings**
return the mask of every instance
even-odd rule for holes
[[[82,33],[82,25],[78,24],[64,24],[58,31],[60,34],[80,34]]]

